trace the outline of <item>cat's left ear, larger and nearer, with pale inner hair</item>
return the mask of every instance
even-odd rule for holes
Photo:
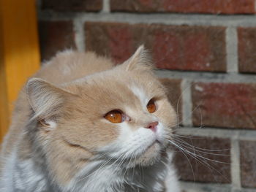
[[[34,118],[49,120],[60,114],[65,97],[71,93],[57,88],[45,80],[32,78],[26,84],[26,94],[29,104],[34,110]]]

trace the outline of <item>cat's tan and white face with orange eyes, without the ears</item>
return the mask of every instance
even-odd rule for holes
[[[78,99],[61,123],[63,137],[115,159],[151,164],[167,145],[176,118],[162,85],[147,72],[101,75],[77,86]]]

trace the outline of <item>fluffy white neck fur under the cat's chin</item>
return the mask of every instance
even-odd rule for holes
[[[170,153],[169,153],[170,154]],[[75,183],[78,191],[165,191],[165,177],[167,165],[170,165],[170,156],[162,154],[161,161],[152,166],[127,167],[129,161],[94,161],[82,170]],[[107,162],[107,163],[106,163]],[[121,165],[121,164],[126,164]],[[86,185],[85,185],[86,183]],[[71,188],[70,188],[71,189]]]

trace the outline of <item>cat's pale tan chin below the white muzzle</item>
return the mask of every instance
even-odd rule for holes
[[[159,161],[162,150],[162,145],[159,142],[154,142],[148,149],[138,158],[135,164],[140,164],[140,166],[151,166]]]

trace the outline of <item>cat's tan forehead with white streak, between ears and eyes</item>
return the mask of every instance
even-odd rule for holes
[[[125,107],[141,107],[157,94],[159,83],[154,77],[126,73],[101,74],[80,83],[79,96],[103,109],[120,110]]]

